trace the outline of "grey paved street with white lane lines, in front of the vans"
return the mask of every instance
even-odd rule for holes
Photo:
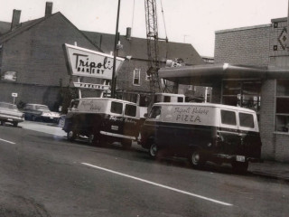
[[[36,131],[37,130],[37,131]],[[45,133],[44,133],[45,132]],[[284,179],[152,161],[136,144],[70,143],[61,127],[0,126],[0,216],[288,216]]]

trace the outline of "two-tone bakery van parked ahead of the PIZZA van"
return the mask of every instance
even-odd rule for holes
[[[132,146],[139,134],[139,109],[133,102],[121,99],[84,98],[71,102],[63,130],[70,141],[89,137],[89,144],[120,142]]]

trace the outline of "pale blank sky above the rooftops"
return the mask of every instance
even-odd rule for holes
[[[11,22],[14,9],[21,10],[20,22],[40,18],[47,1],[53,14],[61,12],[79,30],[116,33],[118,0],[0,0],[0,21]],[[213,57],[216,31],[271,24],[287,16],[289,0],[155,1],[160,38],[191,43],[201,56]],[[121,0],[118,32],[126,34],[126,27],[133,37],[146,37],[144,0]]]

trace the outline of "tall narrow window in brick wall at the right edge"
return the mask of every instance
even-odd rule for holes
[[[289,132],[289,80],[276,82],[275,130]]]

